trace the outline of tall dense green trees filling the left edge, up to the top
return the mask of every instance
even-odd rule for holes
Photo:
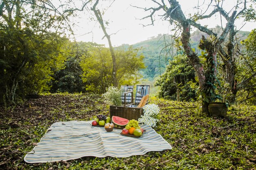
[[[49,90],[53,71],[63,67],[60,20],[44,2],[1,2],[0,23],[0,95],[13,103],[18,97]],[[0,97],[2,99],[2,97]]]

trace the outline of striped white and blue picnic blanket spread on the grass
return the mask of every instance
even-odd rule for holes
[[[121,129],[107,132],[91,126],[92,121],[56,122],[24,160],[27,163],[67,161],[86,156],[130,157],[149,151],[171,149],[161,135],[150,126],[141,125],[146,132],[139,138],[120,135]]]

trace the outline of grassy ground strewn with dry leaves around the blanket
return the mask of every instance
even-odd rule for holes
[[[155,97],[160,108],[200,106]],[[52,94],[0,106],[0,169],[227,169],[256,170],[256,106],[229,107],[225,118],[201,113],[200,108],[161,110],[156,132],[173,147],[128,158],[83,157],[52,163],[26,163],[23,158],[57,121],[90,120],[109,115],[100,96]]]

